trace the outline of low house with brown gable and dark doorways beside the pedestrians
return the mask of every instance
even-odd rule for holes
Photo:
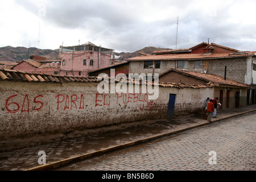
[[[220,109],[246,106],[247,89],[250,89],[249,85],[218,75],[182,71],[179,69],[170,69],[170,71],[161,74],[159,82],[175,82],[179,84],[207,84],[212,82],[214,85],[214,95],[211,96],[209,94],[208,97],[218,97],[218,102],[222,105]]]

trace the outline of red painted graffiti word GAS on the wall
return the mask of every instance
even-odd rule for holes
[[[16,101],[16,102],[14,102],[14,101],[12,102],[12,101],[11,101],[11,100],[15,100],[15,98],[16,98],[17,96],[18,96],[17,94],[15,94],[15,95],[13,95],[13,96],[10,96],[9,98],[7,98],[7,100],[6,100],[6,102],[5,102],[5,108],[6,108],[6,110],[7,110],[9,113],[16,113],[16,112],[18,112],[19,109],[20,109],[20,104],[17,103],[18,101]],[[39,96],[34,97],[33,103],[35,103],[36,106],[38,106],[38,107],[35,107],[34,110],[40,110],[40,109],[42,109],[42,107],[44,106],[44,104],[43,104],[42,101],[38,101],[39,97],[42,97],[42,98],[43,98],[42,95],[39,95]],[[23,113],[23,112],[29,113],[29,112],[30,112],[30,102],[31,102],[31,101],[30,101],[29,98],[28,98],[28,94],[26,94],[26,95],[24,96],[24,99],[23,99],[23,102],[22,102],[22,107],[21,107],[21,111],[20,111],[21,113]],[[14,109],[11,110],[10,107],[12,107],[12,108],[14,108]]]

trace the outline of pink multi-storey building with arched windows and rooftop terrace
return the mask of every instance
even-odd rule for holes
[[[113,51],[91,42],[79,46],[60,46],[60,75],[86,77],[90,71],[111,65]]]

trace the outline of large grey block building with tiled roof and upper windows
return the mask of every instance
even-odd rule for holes
[[[250,85],[246,104],[251,105],[256,104],[255,53],[256,51],[238,51],[214,43],[201,43],[188,49],[155,51],[154,55],[132,57],[126,61],[130,63],[130,73],[162,74],[174,68],[222,77],[226,75],[226,78]]]

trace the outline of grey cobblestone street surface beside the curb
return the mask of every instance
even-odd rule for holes
[[[256,170],[256,113],[152,140],[56,170]],[[213,162],[216,152],[216,164]]]

